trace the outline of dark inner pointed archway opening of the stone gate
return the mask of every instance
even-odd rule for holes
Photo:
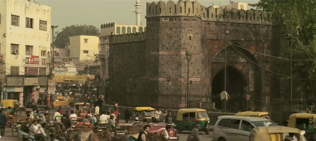
[[[219,71],[212,82],[212,101],[215,102],[215,108],[222,109],[222,101],[219,94],[224,91],[225,70]],[[247,92],[247,83],[243,74],[233,66],[226,67],[226,92],[230,95],[227,102],[227,110],[246,110],[245,98],[243,95]]]

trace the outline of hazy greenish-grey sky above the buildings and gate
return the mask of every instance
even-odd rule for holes
[[[140,1],[141,21],[145,25],[146,2],[152,1]],[[55,29],[57,31],[74,24],[91,24],[100,28],[101,23],[115,21],[117,24],[135,25],[135,13],[133,13],[135,0],[35,0],[35,2],[52,7],[52,25],[59,26]],[[212,5],[212,2],[214,5],[229,4],[229,0],[199,0],[199,3],[206,7]],[[258,0],[233,0],[233,2],[258,3]]]

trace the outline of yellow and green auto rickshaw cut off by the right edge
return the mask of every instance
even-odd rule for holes
[[[309,139],[316,133],[315,118],[316,114],[312,113],[294,113],[289,116],[288,127],[304,130],[305,137]]]

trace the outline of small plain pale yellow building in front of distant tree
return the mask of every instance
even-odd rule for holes
[[[70,58],[91,60],[94,54],[99,54],[99,37],[79,35],[69,39]]]

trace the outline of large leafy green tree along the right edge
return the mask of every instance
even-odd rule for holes
[[[292,34],[295,36],[292,51],[292,60],[295,60],[293,78],[302,79],[297,89],[302,90],[304,94],[314,95],[316,92],[316,81],[314,81],[316,80],[316,0],[260,0],[256,4],[249,5],[258,10],[271,12],[274,25],[283,29],[288,26],[295,28],[296,34]],[[289,49],[282,50],[283,56],[290,56],[289,54]],[[289,70],[289,66],[287,68],[283,70]]]

